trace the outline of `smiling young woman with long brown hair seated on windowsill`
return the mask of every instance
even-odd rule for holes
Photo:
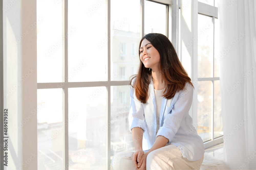
[[[189,109],[193,84],[169,39],[145,35],[140,66],[131,80],[129,128],[135,151],[113,156],[118,169],[199,169],[204,143],[192,125]]]

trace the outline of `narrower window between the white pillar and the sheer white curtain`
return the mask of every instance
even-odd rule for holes
[[[214,5],[214,1],[204,1]],[[208,6],[209,6],[208,5]],[[198,2],[198,125],[197,131],[204,142],[223,136],[218,49],[218,19],[199,7]],[[211,7],[215,8],[215,7]],[[215,10],[215,9],[214,9]]]

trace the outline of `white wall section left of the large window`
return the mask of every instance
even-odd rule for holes
[[[4,169],[37,169],[37,116],[31,114],[37,108],[36,35],[36,0],[4,0],[4,109],[9,136]]]

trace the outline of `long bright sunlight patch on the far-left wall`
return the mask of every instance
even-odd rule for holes
[[[19,164],[19,160],[17,160],[18,149],[21,148],[20,141],[20,129],[17,129],[16,126],[18,121],[21,119],[21,115],[18,111],[18,90],[20,89],[21,81],[19,78],[20,72],[18,72],[18,45],[15,45],[16,42],[15,33],[12,28],[12,24],[9,21],[9,18],[6,16],[6,36],[4,41],[4,46],[6,49],[6,55],[4,55],[4,60],[6,60],[6,68],[4,71],[4,80],[6,84],[4,84],[4,100],[6,101],[5,108],[8,108],[8,112],[14,113],[10,118],[12,121],[8,121],[8,136],[10,137],[11,143],[9,143],[9,153],[8,153],[8,168],[9,169],[16,169],[15,164]],[[16,31],[19,31],[18,29]],[[19,61],[20,63],[20,61]],[[20,91],[20,90],[19,90]],[[17,113],[17,114],[15,114]],[[13,149],[10,149],[12,145]]]

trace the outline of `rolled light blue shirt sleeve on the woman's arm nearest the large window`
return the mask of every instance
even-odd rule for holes
[[[144,116],[144,110],[142,103],[136,98],[134,88],[130,89],[130,108],[129,108],[129,129],[132,132],[132,128],[140,127],[143,129],[143,133],[146,129],[146,122]]]

